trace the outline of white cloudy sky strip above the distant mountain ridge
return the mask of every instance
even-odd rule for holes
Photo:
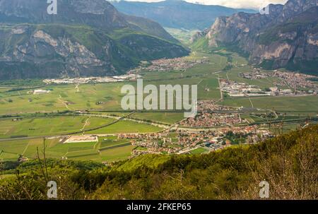
[[[163,1],[163,0],[126,0],[126,1]],[[228,6],[231,8],[260,8],[268,4],[285,4],[287,0],[186,0],[189,2],[199,2],[200,4],[215,4]]]

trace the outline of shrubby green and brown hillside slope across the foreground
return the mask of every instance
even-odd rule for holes
[[[0,198],[45,199],[46,177],[59,181],[59,199],[259,199],[264,180],[270,199],[317,199],[317,152],[316,125],[206,155],[145,155],[111,167],[47,160],[45,176],[37,161],[4,162]]]

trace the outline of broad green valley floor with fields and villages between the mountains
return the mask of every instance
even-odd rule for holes
[[[117,76],[121,81],[42,80],[16,89],[0,82],[0,158],[33,160],[45,145],[47,157],[109,164],[147,153],[208,153],[317,123],[317,82],[311,76],[295,88],[293,78],[271,74],[288,71],[257,69],[261,78],[250,78],[254,70],[246,58],[223,50],[148,61],[129,71],[132,78]],[[135,85],[134,77],[154,85],[198,84],[199,115],[189,120],[179,110],[122,110],[120,89]],[[260,94],[230,96],[220,80],[254,85]],[[49,93],[30,93],[33,88]],[[290,94],[264,97],[269,88]],[[98,142],[63,143],[71,136],[98,136]]]

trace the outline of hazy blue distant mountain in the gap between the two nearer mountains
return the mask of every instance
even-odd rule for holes
[[[233,9],[224,6],[192,4],[182,0],[167,0],[153,3],[135,1],[112,1],[122,13],[149,18],[165,28],[204,30],[218,16],[230,16],[239,11],[255,13],[253,10]]]

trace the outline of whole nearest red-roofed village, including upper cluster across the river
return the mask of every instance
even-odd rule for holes
[[[195,118],[179,121],[175,128],[158,133],[122,133],[120,139],[129,139],[135,149],[131,155],[209,153],[231,145],[252,144],[272,136],[267,127],[247,125],[237,109],[217,105],[216,100],[198,102]],[[242,126],[240,126],[242,124]]]

